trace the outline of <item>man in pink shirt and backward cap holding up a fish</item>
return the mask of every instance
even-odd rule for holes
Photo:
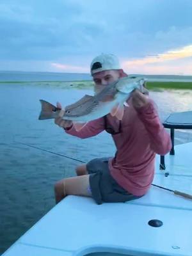
[[[95,93],[107,84],[127,76],[113,54],[101,54],[94,58],[91,74]],[[129,106],[124,106],[122,121],[108,114],[88,122],[78,132],[72,121],[62,120],[65,110],[61,110],[61,117],[56,118],[55,124],[79,138],[107,131],[115,142],[116,154],[110,159],[93,159],[78,166],[77,177],[57,182],[56,203],[66,195],[92,196],[97,204],[102,204],[125,202],[147,193],[154,178],[155,156],[168,153],[172,147],[171,140],[148,95],[134,90],[127,103]],[[61,108],[60,103],[57,106]]]

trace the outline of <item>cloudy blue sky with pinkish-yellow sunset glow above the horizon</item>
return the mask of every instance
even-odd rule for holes
[[[1,0],[0,70],[192,75],[191,0]]]

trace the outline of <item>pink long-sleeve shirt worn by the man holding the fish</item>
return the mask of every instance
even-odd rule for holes
[[[108,124],[118,131],[119,121],[107,116]],[[79,138],[88,138],[104,131],[104,118],[88,122],[77,132],[72,126],[65,130]],[[129,107],[124,107],[122,132],[112,135],[116,145],[115,157],[109,160],[109,171],[116,182],[135,196],[147,193],[154,179],[156,154],[167,154],[172,142],[159,120],[154,102],[138,110],[129,100]]]

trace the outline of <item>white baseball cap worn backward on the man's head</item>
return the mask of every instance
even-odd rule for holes
[[[95,57],[91,63],[91,74],[105,70],[118,70],[121,69],[118,58],[114,54],[100,54]]]

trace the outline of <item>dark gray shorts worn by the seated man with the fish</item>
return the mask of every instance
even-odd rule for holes
[[[102,202],[126,202],[139,198],[120,187],[111,176],[108,168],[109,158],[96,158],[86,164],[90,174],[90,189],[97,204]]]

